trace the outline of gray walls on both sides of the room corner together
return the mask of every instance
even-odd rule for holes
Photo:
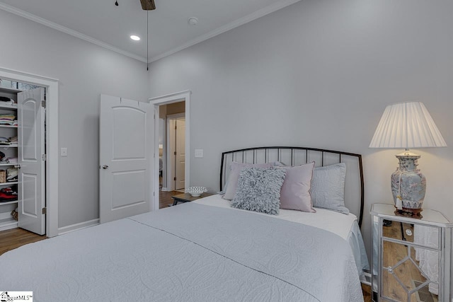
[[[305,0],[151,64],[0,11],[0,66],[57,78],[59,227],[98,218],[98,96],[190,89],[192,185],[218,190],[222,151],[260,145],[362,153],[370,206],[391,203],[400,150],[368,149],[386,105],[420,100],[448,148],[416,150],[425,207],[453,219],[453,1]],[[147,79],[149,77],[149,79]],[[147,81],[148,80],[148,81]],[[147,87],[149,86],[149,87]]]

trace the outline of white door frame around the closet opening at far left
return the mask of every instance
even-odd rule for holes
[[[58,86],[59,80],[37,74],[0,67],[0,78],[22,83],[30,83],[46,88],[46,132],[45,149],[45,216],[46,236],[58,235]]]

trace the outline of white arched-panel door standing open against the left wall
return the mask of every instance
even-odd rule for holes
[[[153,115],[149,103],[101,95],[101,223],[151,210]]]

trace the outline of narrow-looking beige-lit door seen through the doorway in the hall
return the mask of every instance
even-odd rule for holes
[[[185,119],[176,120],[175,190],[185,187]]]

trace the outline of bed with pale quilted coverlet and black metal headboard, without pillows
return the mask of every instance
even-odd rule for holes
[[[35,301],[363,300],[360,155],[264,147],[224,152],[221,161],[221,191],[232,162],[345,163],[350,213],[270,215],[231,208],[214,194],[6,252],[1,290],[33,291]]]

